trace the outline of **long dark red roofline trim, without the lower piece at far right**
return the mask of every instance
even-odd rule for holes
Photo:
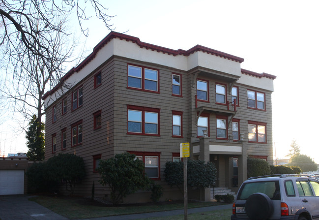
[[[243,58],[240,57],[236,57],[233,56],[231,54],[227,54],[221,51],[217,51],[217,50],[213,50],[210,49],[208,47],[204,47],[201,45],[196,45],[195,47],[185,51],[182,49],[178,49],[178,50],[172,50],[169,48],[165,48],[165,47],[161,47],[161,46],[157,46],[154,44],[149,44],[149,43],[145,43],[142,42],[138,37],[134,37],[134,36],[130,36],[130,35],[126,35],[123,33],[118,33],[118,32],[114,32],[111,31],[106,37],[104,37],[103,40],[101,40],[94,48],[93,48],[93,52],[87,56],[87,58],[82,61],[78,66],[73,67],[72,69],[70,69],[62,78],[61,81],[63,82],[64,80],[68,79],[73,73],[75,72],[79,72],[81,69],[83,69],[91,60],[93,60],[97,54],[97,52],[102,49],[102,47],[107,44],[108,42],[110,42],[113,38],[119,38],[120,40],[126,40],[126,41],[132,41],[133,43],[136,43],[137,45],[139,45],[141,48],[145,48],[146,50],[152,50],[152,51],[157,51],[157,52],[162,52],[163,54],[168,54],[168,55],[173,55],[173,56],[177,56],[177,55],[183,55],[183,56],[189,56],[190,54],[193,54],[197,51],[202,51],[203,53],[207,53],[207,54],[211,54],[211,55],[215,55],[217,57],[221,57],[224,59],[228,59],[228,60],[232,60],[235,62],[239,62],[242,63],[244,61]],[[47,98],[49,95],[53,94],[54,92],[56,92],[59,88],[60,84],[57,85],[55,88],[53,88],[51,91],[47,92],[46,94],[44,94],[42,99]]]

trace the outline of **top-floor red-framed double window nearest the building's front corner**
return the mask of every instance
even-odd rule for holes
[[[158,70],[144,66],[127,65],[127,87],[148,92],[159,92]]]

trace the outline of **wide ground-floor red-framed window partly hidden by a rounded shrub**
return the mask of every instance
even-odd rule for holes
[[[145,165],[145,175],[153,180],[160,180],[160,152],[129,152],[142,160]]]

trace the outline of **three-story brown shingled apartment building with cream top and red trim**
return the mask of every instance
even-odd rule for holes
[[[272,163],[273,75],[241,69],[244,59],[197,45],[172,50],[111,32],[44,96],[46,152],[84,158],[78,193],[108,196],[98,184],[99,160],[129,152],[163,185],[163,199],[180,198],[165,184],[167,161],[190,143],[191,159],[212,161],[219,187],[236,191],[248,156]],[[127,201],[145,201],[139,192]],[[210,200],[209,189],[203,193]]]

